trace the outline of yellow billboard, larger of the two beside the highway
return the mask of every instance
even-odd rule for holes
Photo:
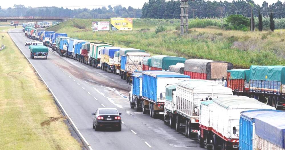
[[[133,18],[111,18],[111,30],[133,30]]]

